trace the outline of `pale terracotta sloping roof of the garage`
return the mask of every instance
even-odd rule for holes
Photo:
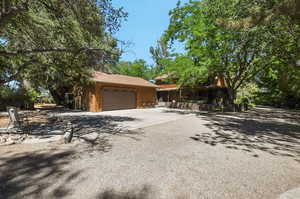
[[[107,74],[94,72],[92,80],[100,83],[122,84],[128,86],[152,87],[157,88],[155,84],[139,77],[130,77],[126,75]]]

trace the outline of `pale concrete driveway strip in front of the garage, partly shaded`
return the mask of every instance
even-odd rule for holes
[[[76,135],[84,139],[95,139],[99,135],[116,134],[134,131],[148,126],[179,120],[192,115],[191,111],[175,111],[167,108],[133,109],[106,112],[82,112],[73,110],[41,111],[41,115],[56,118],[56,121],[45,123],[33,122],[31,132],[35,136],[25,143],[41,143],[60,140],[66,123],[72,122]]]

